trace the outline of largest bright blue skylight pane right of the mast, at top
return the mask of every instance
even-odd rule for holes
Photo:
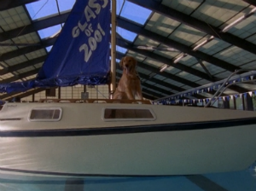
[[[132,20],[141,25],[144,25],[146,20],[148,20],[148,16],[151,14],[151,12],[152,11],[149,9],[145,9],[141,6],[134,4],[134,3],[125,1],[125,5],[124,5],[120,15],[122,17],[125,17],[128,20]]]

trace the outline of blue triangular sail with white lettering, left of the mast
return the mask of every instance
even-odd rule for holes
[[[110,0],[77,0],[36,79],[0,84],[0,92],[108,84]]]

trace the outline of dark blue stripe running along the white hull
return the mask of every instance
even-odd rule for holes
[[[81,128],[81,129],[58,129],[58,130],[3,130],[0,137],[40,137],[40,136],[96,136],[130,133],[147,133],[160,131],[178,130],[207,130],[256,124],[255,118],[230,119],[221,121],[206,121],[179,124],[147,124],[133,126],[115,126],[108,128]]]

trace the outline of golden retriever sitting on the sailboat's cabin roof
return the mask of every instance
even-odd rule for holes
[[[113,99],[135,100],[137,96],[143,100],[141,81],[136,71],[137,61],[131,56],[125,56],[119,65],[123,68],[123,74],[113,94]]]

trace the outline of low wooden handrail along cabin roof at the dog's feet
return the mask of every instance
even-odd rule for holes
[[[59,102],[59,103],[135,103],[151,104],[148,100],[115,100],[115,99],[40,99],[38,102]]]

